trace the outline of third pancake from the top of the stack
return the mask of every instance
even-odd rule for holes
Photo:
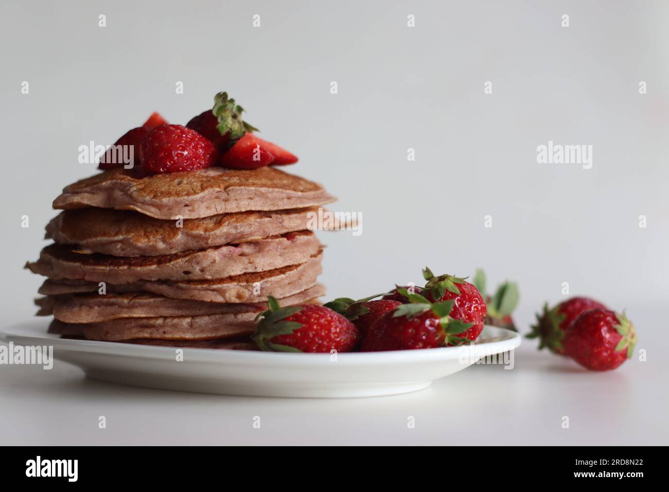
[[[209,280],[306,262],[321,248],[310,231],[165,256],[122,258],[51,244],[25,267],[49,278],[126,284],[138,280]]]

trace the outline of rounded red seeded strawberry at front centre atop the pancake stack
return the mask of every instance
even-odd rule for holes
[[[181,125],[160,125],[140,144],[142,167],[151,173],[175,173],[211,167],[219,159],[213,143]]]

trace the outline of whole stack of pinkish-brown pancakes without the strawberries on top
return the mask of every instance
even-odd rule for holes
[[[333,200],[274,167],[83,179],[54,201],[54,244],[26,265],[47,277],[38,315],[67,337],[253,348],[269,295],[292,305],[324,294],[308,224]]]

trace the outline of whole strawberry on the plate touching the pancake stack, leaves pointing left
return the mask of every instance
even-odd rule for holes
[[[268,310],[258,315],[252,335],[261,350],[292,352],[350,352],[360,333],[345,317],[316,304],[280,307],[268,297]]]

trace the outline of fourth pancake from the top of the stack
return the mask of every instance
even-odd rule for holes
[[[107,293],[145,291],[173,299],[191,299],[209,303],[264,303],[268,295],[281,299],[316,285],[316,278],[322,272],[321,258],[322,255],[319,253],[302,264],[284,266],[267,272],[236,275],[221,280],[106,284],[106,291]],[[42,295],[95,293],[99,288],[95,282],[48,279],[39,288],[39,293]]]

